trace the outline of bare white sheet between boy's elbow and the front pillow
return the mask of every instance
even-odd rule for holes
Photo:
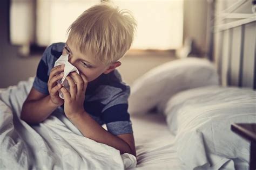
[[[157,112],[131,115],[137,166],[129,169],[185,169],[178,159],[174,136]]]

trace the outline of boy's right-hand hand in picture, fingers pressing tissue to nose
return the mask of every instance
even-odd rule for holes
[[[84,100],[85,100],[85,91],[87,88],[87,78],[83,73],[80,75],[76,72],[70,73],[71,76],[66,76],[66,80],[69,83],[68,91],[65,87],[62,87],[62,91],[65,101],[64,101],[64,112],[69,119],[75,118],[79,115],[82,115],[84,110]],[[75,80],[75,82],[74,82]]]

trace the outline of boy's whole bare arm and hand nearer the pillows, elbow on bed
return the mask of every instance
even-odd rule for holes
[[[78,75],[76,72],[72,72],[71,75],[73,78],[70,76],[66,77],[70,85],[70,90],[68,91],[64,87],[60,88],[60,91],[62,91],[65,98],[65,115],[80,130],[80,132],[82,132],[85,137],[95,140],[99,143],[112,146],[119,150],[121,154],[130,153],[136,157],[133,134],[130,133],[122,135],[119,133],[119,136],[115,136],[111,132],[102,128],[102,126],[99,125],[84,109],[84,100],[87,88],[86,76],[83,73]],[[76,84],[73,79],[76,81]],[[119,108],[115,110],[115,112],[122,114],[124,111],[126,111],[126,107],[124,107],[123,110]],[[127,118],[129,117],[127,116],[126,119]]]

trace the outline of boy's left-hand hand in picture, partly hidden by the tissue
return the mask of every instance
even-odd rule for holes
[[[57,81],[62,79],[63,73],[60,74],[61,72],[64,72],[64,67],[65,65],[59,65],[56,67],[53,67],[51,69],[51,73],[49,75],[49,81],[48,81],[48,91],[50,93],[50,98],[51,101],[56,104],[56,105],[62,105],[64,103],[64,100],[59,97],[58,90],[62,88],[61,84],[57,85]]]

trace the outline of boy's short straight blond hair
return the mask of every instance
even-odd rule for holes
[[[90,52],[109,65],[122,58],[131,47],[136,27],[130,11],[103,2],[85,10],[67,32],[80,52]]]

